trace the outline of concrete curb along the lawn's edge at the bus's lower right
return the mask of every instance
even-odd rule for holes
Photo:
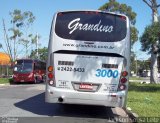
[[[128,114],[128,117],[131,119],[131,123],[138,123],[138,114],[132,111],[130,107],[127,107],[127,109],[124,109],[126,113]]]

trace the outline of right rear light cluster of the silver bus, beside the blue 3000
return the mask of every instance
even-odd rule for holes
[[[128,72],[127,71],[123,71],[121,74],[121,78],[120,78],[120,82],[119,82],[119,91],[123,91],[126,89],[126,83],[127,83],[127,77],[128,76]]]

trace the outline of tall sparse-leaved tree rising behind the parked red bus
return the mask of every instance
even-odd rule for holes
[[[11,24],[13,25],[9,31],[12,32],[10,40],[13,41],[13,60],[17,57],[17,50],[19,49],[19,44],[23,45],[26,50],[26,56],[28,55],[28,47],[31,45],[32,35],[29,34],[29,27],[33,24],[35,16],[32,12],[26,11],[21,12],[20,10],[14,10],[10,12]],[[11,48],[12,49],[12,48]]]

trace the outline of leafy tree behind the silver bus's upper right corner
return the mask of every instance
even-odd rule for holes
[[[134,27],[137,14],[132,11],[132,8],[126,4],[120,4],[116,0],[109,0],[109,2],[101,6],[99,10],[118,12],[129,17],[131,21],[131,44],[133,46],[133,44],[138,40],[138,30]]]

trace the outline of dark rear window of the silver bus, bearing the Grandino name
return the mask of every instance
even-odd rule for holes
[[[61,12],[55,33],[64,39],[117,42],[126,37],[126,17],[100,12]]]

